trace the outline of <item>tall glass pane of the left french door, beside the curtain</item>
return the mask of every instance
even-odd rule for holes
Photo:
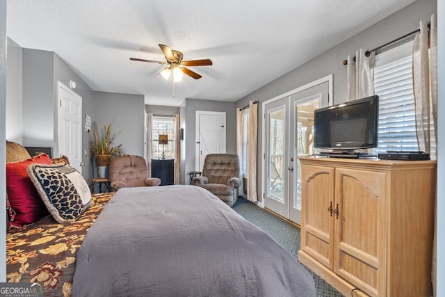
[[[268,196],[284,200],[284,107],[268,113]]]

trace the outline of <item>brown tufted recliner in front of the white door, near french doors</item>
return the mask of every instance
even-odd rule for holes
[[[193,177],[192,184],[206,188],[232,207],[238,199],[240,175],[239,157],[236,154],[208,154],[202,176]]]

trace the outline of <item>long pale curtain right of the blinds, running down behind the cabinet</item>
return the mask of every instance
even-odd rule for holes
[[[412,53],[412,79],[416,109],[416,132],[419,150],[437,156],[437,15],[431,15],[430,31],[428,22],[420,21],[419,33],[414,36]],[[435,226],[437,225],[437,197]],[[437,230],[432,243],[431,282],[434,296],[437,285]]]

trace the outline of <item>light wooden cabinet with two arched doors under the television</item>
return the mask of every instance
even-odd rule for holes
[[[346,296],[430,296],[436,162],[299,161],[300,262]]]

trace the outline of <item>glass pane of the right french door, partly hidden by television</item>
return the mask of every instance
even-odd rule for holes
[[[294,159],[298,160],[298,156],[310,156],[314,154],[314,111],[319,108],[321,98],[296,104],[296,125],[295,125],[295,147]],[[297,162],[297,168],[293,175],[293,208],[301,210],[301,170],[300,162]]]

